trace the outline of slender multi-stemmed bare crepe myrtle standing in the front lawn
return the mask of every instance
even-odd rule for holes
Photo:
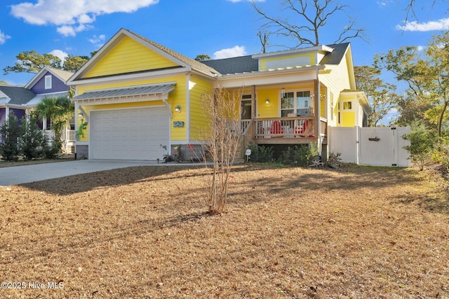
[[[216,85],[212,94],[201,99],[207,113],[206,130],[202,133],[207,142],[203,146],[204,158],[212,163],[207,179],[206,203],[210,214],[222,214],[227,203],[229,174],[239,149],[241,136],[241,92],[230,92]],[[206,164],[208,167],[208,164]]]

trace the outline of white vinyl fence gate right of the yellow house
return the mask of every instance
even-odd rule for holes
[[[410,127],[329,127],[329,153],[357,165],[410,167]]]

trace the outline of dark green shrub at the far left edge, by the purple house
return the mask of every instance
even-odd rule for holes
[[[20,154],[19,138],[22,132],[18,125],[18,119],[13,114],[9,114],[6,121],[0,129],[0,154],[1,160],[17,161]]]

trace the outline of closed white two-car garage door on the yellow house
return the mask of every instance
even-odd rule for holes
[[[92,111],[91,159],[156,160],[167,153],[166,107]]]

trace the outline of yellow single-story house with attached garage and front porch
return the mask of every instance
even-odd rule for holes
[[[181,145],[201,155],[201,95],[242,92],[242,134],[255,144],[309,144],[327,153],[329,126],[363,126],[349,43],[197,62],[120,29],[69,80],[76,88],[76,155],[162,160]]]

